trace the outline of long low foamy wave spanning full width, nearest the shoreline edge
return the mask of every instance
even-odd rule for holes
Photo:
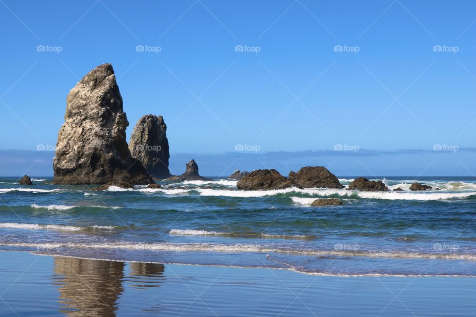
[[[257,244],[208,244],[208,243],[23,243],[0,242],[9,247],[29,247],[38,249],[60,248],[90,248],[90,249],[130,249],[150,251],[203,251],[203,252],[236,252],[236,253],[282,253],[306,256],[331,257],[367,257],[367,258],[410,258],[410,259],[444,259],[444,260],[476,260],[474,254],[459,253],[416,253],[416,252],[386,252],[386,251],[348,251],[348,250],[313,250],[273,247]]]

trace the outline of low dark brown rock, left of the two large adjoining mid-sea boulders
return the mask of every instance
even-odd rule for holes
[[[237,183],[237,188],[244,190],[283,189],[291,186],[292,182],[276,169],[254,170]]]

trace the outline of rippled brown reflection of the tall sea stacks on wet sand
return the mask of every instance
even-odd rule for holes
[[[163,264],[131,263],[125,276],[123,262],[55,257],[52,278],[60,291],[60,313],[70,317],[114,317],[123,283],[139,288],[158,287]]]

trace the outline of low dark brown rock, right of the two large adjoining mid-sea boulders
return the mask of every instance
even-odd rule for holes
[[[339,179],[324,166],[306,166],[296,172],[291,171],[288,179],[302,188],[344,188]]]

